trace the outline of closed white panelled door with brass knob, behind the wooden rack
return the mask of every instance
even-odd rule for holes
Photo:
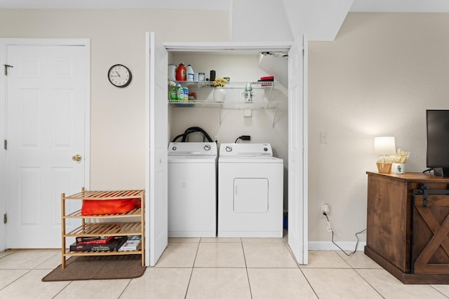
[[[60,194],[86,182],[88,49],[7,45],[6,57],[6,248],[58,248]]]

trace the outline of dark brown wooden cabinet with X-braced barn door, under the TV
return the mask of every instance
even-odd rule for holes
[[[367,174],[366,255],[404,284],[447,284],[449,179]]]

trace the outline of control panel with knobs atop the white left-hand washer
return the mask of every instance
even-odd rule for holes
[[[215,142],[170,142],[168,156],[217,156]]]

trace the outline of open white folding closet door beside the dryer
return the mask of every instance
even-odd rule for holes
[[[307,41],[288,51],[288,245],[300,264],[307,244]]]

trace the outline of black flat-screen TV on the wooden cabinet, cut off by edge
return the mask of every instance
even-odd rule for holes
[[[427,110],[427,167],[449,176],[449,110]]]

